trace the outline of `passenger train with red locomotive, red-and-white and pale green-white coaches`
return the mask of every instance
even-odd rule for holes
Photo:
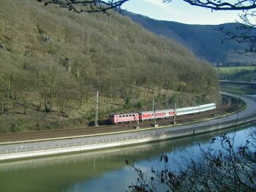
[[[177,108],[176,110],[154,110],[154,111],[143,111],[143,112],[130,112],[125,114],[111,114],[108,118],[110,123],[132,123],[138,121],[154,120],[154,119],[165,119],[172,118],[182,115],[196,114],[200,112],[206,112],[209,110],[216,109],[215,103],[203,104],[194,107]]]

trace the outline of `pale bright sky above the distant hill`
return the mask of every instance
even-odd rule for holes
[[[146,15],[156,20],[171,20],[187,24],[233,23],[239,20],[237,11],[214,11],[195,7],[181,0],[162,3],[162,0],[130,0],[123,4],[123,9]]]

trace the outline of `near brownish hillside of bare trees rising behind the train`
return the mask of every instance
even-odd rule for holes
[[[0,132],[85,126],[113,112],[217,101],[214,68],[119,15],[0,1]]]

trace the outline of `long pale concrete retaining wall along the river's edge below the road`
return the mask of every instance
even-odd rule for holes
[[[146,142],[155,142],[163,139],[174,139],[177,137],[187,137],[192,136],[194,134],[203,134],[209,131],[219,131],[224,128],[229,128],[231,126],[234,126],[236,123],[236,126],[242,125],[244,123],[249,123],[256,120],[256,117],[251,117],[246,120],[238,120],[230,121],[226,123],[222,123],[215,126],[203,126],[203,127],[197,127],[197,128],[186,128],[184,130],[175,130],[175,131],[163,131],[161,133],[157,134],[138,134],[134,137],[120,137],[120,138],[113,138],[105,140],[105,142],[86,142],[83,145],[83,142],[80,145],[53,145],[51,148],[47,146],[42,146],[41,149],[36,149],[36,147],[23,151],[12,151],[12,153],[1,153],[0,154],[0,161],[8,161],[11,159],[18,159],[18,158],[34,158],[38,156],[43,155],[59,155],[63,153],[78,153],[82,151],[92,151],[92,150],[104,150],[111,147],[122,147],[127,145],[140,145],[142,143]]]

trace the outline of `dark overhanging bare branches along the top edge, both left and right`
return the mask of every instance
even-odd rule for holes
[[[103,12],[107,15],[115,11],[121,11],[121,5],[129,0],[37,0],[48,4],[57,4],[75,12]],[[211,9],[212,11],[242,11],[240,18],[241,23],[236,26],[236,31],[220,28],[226,35],[226,39],[233,39],[239,44],[244,45],[244,50],[240,53],[256,53],[256,32],[255,32],[255,15],[256,0],[183,0],[188,4],[196,7]],[[172,0],[162,0],[163,3],[171,3]]]

